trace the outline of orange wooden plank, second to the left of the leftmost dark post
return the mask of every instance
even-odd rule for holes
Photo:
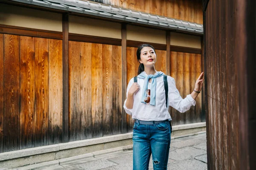
[[[35,38],[35,147],[49,144],[49,39]]]

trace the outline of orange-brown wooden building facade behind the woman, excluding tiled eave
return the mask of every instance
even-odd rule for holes
[[[154,3],[165,4],[166,13],[153,13],[202,22],[200,1]],[[146,12],[156,6],[122,5]],[[182,97],[204,69],[200,33],[18,0],[2,0],[0,15],[0,153],[131,132],[133,120],[122,105],[141,43],[156,48],[156,69],[175,78]],[[186,113],[170,108],[172,124],[205,122],[203,100],[200,94]]]

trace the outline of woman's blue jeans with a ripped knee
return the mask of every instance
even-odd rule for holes
[[[148,170],[152,153],[154,170],[167,170],[171,129],[169,121],[153,125],[134,123],[133,170]]]

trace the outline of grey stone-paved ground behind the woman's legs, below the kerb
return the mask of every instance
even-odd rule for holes
[[[111,153],[44,170],[132,170],[132,150]],[[207,170],[206,133],[172,139],[168,170]],[[149,170],[153,170],[152,158]]]

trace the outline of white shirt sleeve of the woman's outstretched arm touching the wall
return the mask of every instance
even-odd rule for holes
[[[182,99],[180,92],[176,88],[174,78],[168,76],[168,103],[180,113],[184,113],[190,109],[193,105],[195,106],[195,100],[192,98],[191,94],[187,95],[185,99]]]

